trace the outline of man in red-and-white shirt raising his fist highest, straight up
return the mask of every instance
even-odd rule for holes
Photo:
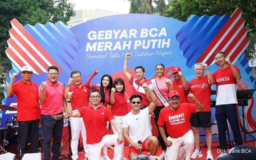
[[[151,101],[150,95],[146,94],[145,90],[142,87],[143,83],[147,83],[147,79],[144,78],[145,75],[145,69],[142,66],[135,67],[135,74],[137,75],[137,78],[134,78],[130,73],[128,72],[128,59],[132,56],[132,54],[126,54],[124,59],[124,75],[126,75],[126,78],[129,80],[130,84],[133,86],[133,95],[140,95],[142,97],[142,102],[140,104],[141,109],[144,109],[145,107],[149,106],[149,101]]]

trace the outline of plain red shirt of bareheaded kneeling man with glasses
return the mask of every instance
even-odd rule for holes
[[[108,134],[107,121],[114,118],[107,107],[99,106],[96,110],[92,106],[77,109],[83,118],[86,128],[86,143],[99,143]]]

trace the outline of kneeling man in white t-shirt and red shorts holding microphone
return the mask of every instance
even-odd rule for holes
[[[124,138],[129,142],[130,160],[135,159],[142,151],[149,151],[151,155],[157,153],[158,140],[157,137],[152,136],[150,118],[158,100],[146,83],[142,86],[146,94],[151,96],[152,102],[148,107],[140,110],[142,97],[140,95],[132,95],[130,97],[132,111],[124,116],[122,124]]]

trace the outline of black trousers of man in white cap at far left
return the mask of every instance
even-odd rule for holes
[[[20,121],[19,124],[19,135],[20,135],[20,143],[18,146],[19,152],[21,154],[27,153],[28,148],[28,138],[31,146],[31,153],[37,153],[38,149],[38,128],[39,120],[32,121]]]

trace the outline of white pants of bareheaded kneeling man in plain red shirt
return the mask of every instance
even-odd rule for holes
[[[122,151],[124,149],[124,142],[117,143],[118,135],[108,134],[105,135],[99,143],[88,144],[89,156],[91,160],[99,160],[101,157],[101,148],[103,146],[115,145],[114,158],[113,160],[121,160]]]

